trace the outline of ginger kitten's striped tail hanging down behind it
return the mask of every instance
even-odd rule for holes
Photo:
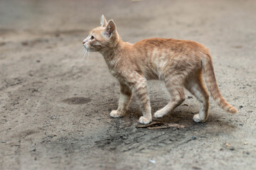
[[[206,81],[206,86],[208,91],[210,91],[210,96],[218,103],[220,108],[223,108],[224,111],[230,113],[238,113],[238,109],[231,106],[223,96],[220,94],[220,89],[218,88],[217,81],[214,74],[213,62],[210,55],[206,55],[202,60],[203,64],[203,77]]]

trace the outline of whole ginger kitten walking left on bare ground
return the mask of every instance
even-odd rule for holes
[[[205,122],[208,118],[209,95],[218,102],[220,108],[230,113],[238,110],[225,101],[220,94],[213,71],[213,62],[208,49],[191,40],[170,38],[149,38],[135,44],[123,42],[117,33],[114,21],[101,18],[101,26],[90,31],[82,44],[86,50],[100,52],[110,70],[120,84],[119,104],[110,116],[124,116],[132,94],[137,96],[143,116],[139,123],[151,122],[151,107],[146,81],[164,81],[171,95],[171,101],[154,116],[161,118],[179,106],[184,100],[184,89],[196,96],[200,102],[199,114],[193,116],[195,122]]]

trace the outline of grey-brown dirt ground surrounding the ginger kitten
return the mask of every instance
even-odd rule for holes
[[[256,169],[256,1],[0,1],[0,169]],[[110,118],[119,86],[82,40],[114,19],[123,40],[196,40],[210,49],[225,113],[210,100],[207,123],[187,98],[161,119],[185,128],[136,128],[132,99]],[[168,103],[149,81],[152,112]],[[191,94],[186,94],[191,96]]]

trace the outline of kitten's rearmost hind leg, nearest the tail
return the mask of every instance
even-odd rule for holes
[[[200,102],[200,111],[199,114],[193,116],[193,120],[197,123],[206,122],[208,118],[208,109],[209,109],[209,95],[206,91],[205,86],[203,85],[203,80],[201,79],[201,74],[194,80],[191,80],[187,85],[186,89],[196,96]]]

